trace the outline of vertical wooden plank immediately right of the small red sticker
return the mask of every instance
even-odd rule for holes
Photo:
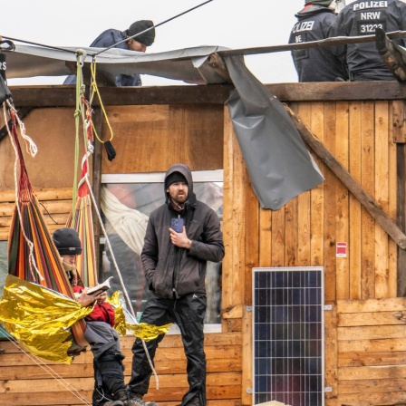
[[[351,102],[349,104],[349,150],[350,161],[349,170],[353,179],[361,184],[361,103]],[[361,239],[361,203],[360,201],[350,193],[349,196],[349,211],[348,221],[351,224],[350,228],[350,241],[348,244],[348,251],[350,256],[350,299],[360,299],[362,292],[362,239]]]

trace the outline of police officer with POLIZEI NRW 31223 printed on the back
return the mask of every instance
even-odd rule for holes
[[[375,34],[381,28],[385,33],[406,29],[406,4],[400,0],[355,0],[337,15],[329,36],[358,36]],[[404,39],[397,42],[404,46]],[[351,43],[332,48],[333,53],[345,59],[352,81],[393,81],[390,69],[382,61],[372,43]]]

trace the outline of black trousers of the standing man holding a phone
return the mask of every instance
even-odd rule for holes
[[[206,405],[206,354],[204,352],[204,318],[206,314],[206,295],[190,294],[179,299],[162,299],[150,295],[140,322],[154,325],[176,323],[182,336],[183,348],[188,360],[187,372],[189,391],[182,400],[186,405],[198,396],[201,406]],[[164,335],[145,342],[153,360],[156,349]],[[150,386],[150,362],[142,342],[137,338],[132,345],[132,371],[129,387],[132,393],[144,395]]]

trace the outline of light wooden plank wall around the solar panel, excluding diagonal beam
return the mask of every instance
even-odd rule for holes
[[[404,183],[404,140],[399,143],[393,115],[399,103],[290,103],[395,224],[404,211],[398,195]],[[403,404],[406,300],[397,298],[402,250],[314,153],[324,183],[279,210],[261,209],[227,109],[225,117],[223,308],[252,304],[253,267],[324,266],[324,299],[332,308],[325,312],[325,386],[332,388],[326,404]],[[346,257],[336,256],[337,242],[347,244]],[[249,340],[252,329],[243,331]],[[243,365],[252,365],[252,343],[243,347],[242,357]],[[245,368],[242,384],[242,402],[250,404],[245,389],[252,379]]]

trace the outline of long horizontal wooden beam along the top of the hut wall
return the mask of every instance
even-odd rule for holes
[[[397,81],[274,83],[266,87],[281,102],[406,99],[406,86]],[[75,107],[73,85],[10,86],[10,90],[19,106]],[[224,104],[232,90],[232,84],[100,87],[106,106]]]

